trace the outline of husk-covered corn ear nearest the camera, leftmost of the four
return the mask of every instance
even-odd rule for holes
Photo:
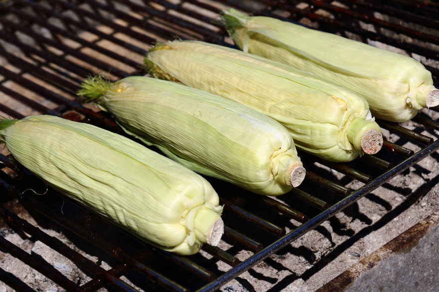
[[[140,144],[45,115],[0,121],[0,139],[47,184],[146,242],[182,255],[219,242],[210,183]]]

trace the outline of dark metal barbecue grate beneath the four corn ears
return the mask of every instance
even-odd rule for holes
[[[439,87],[439,47],[435,45],[439,44],[439,30],[435,30],[439,29],[439,5],[433,1],[3,0],[0,111],[17,119],[37,113],[56,115],[124,135],[111,117],[78,102],[75,92],[81,81],[100,72],[112,80],[143,75],[142,57],[157,41],[178,37],[232,46],[218,22],[221,9],[227,7],[301,21],[322,31],[404,50],[425,64]],[[26,253],[3,237],[0,250],[66,291],[97,291],[103,287],[110,291],[215,291],[434,153],[439,148],[439,141],[434,139],[439,123],[424,113],[413,122],[415,126],[409,130],[379,121],[391,134],[383,149],[353,162],[331,163],[300,153],[307,168],[304,183],[276,199],[255,196],[208,178],[225,205],[223,241],[228,248],[204,246],[202,255],[189,257],[138,241],[47,190],[13,157],[4,154],[0,156],[3,202],[18,198],[19,204],[40,220],[104,254],[112,265],[109,270],[103,269],[18,217],[14,209],[3,207],[0,213],[12,229],[68,258],[90,280],[78,285],[43,258]],[[403,146],[406,142],[416,148]],[[355,189],[346,187],[352,181],[363,184]],[[252,255],[241,261],[237,254],[242,250]],[[226,271],[218,269],[219,261],[228,264]],[[135,284],[121,280],[121,276],[135,279]],[[34,291],[4,270],[0,270],[0,280],[16,291]]]

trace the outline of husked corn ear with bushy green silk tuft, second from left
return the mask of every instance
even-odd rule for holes
[[[188,168],[258,194],[281,195],[304,176],[288,131],[225,98],[175,82],[92,77],[79,95],[114,115],[124,131]]]

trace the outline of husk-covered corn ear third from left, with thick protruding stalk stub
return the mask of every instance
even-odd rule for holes
[[[152,75],[235,100],[284,125],[296,146],[331,161],[350,161],[382,146],[356,94],[290,66],[214,44],[172,41],[145,57]]]

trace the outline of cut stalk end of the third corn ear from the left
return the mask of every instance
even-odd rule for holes
[[[356,118],[349,125],[347,137],[356,150],[366,154],[375,154],[383,146],[383,134],[375,121]]]

